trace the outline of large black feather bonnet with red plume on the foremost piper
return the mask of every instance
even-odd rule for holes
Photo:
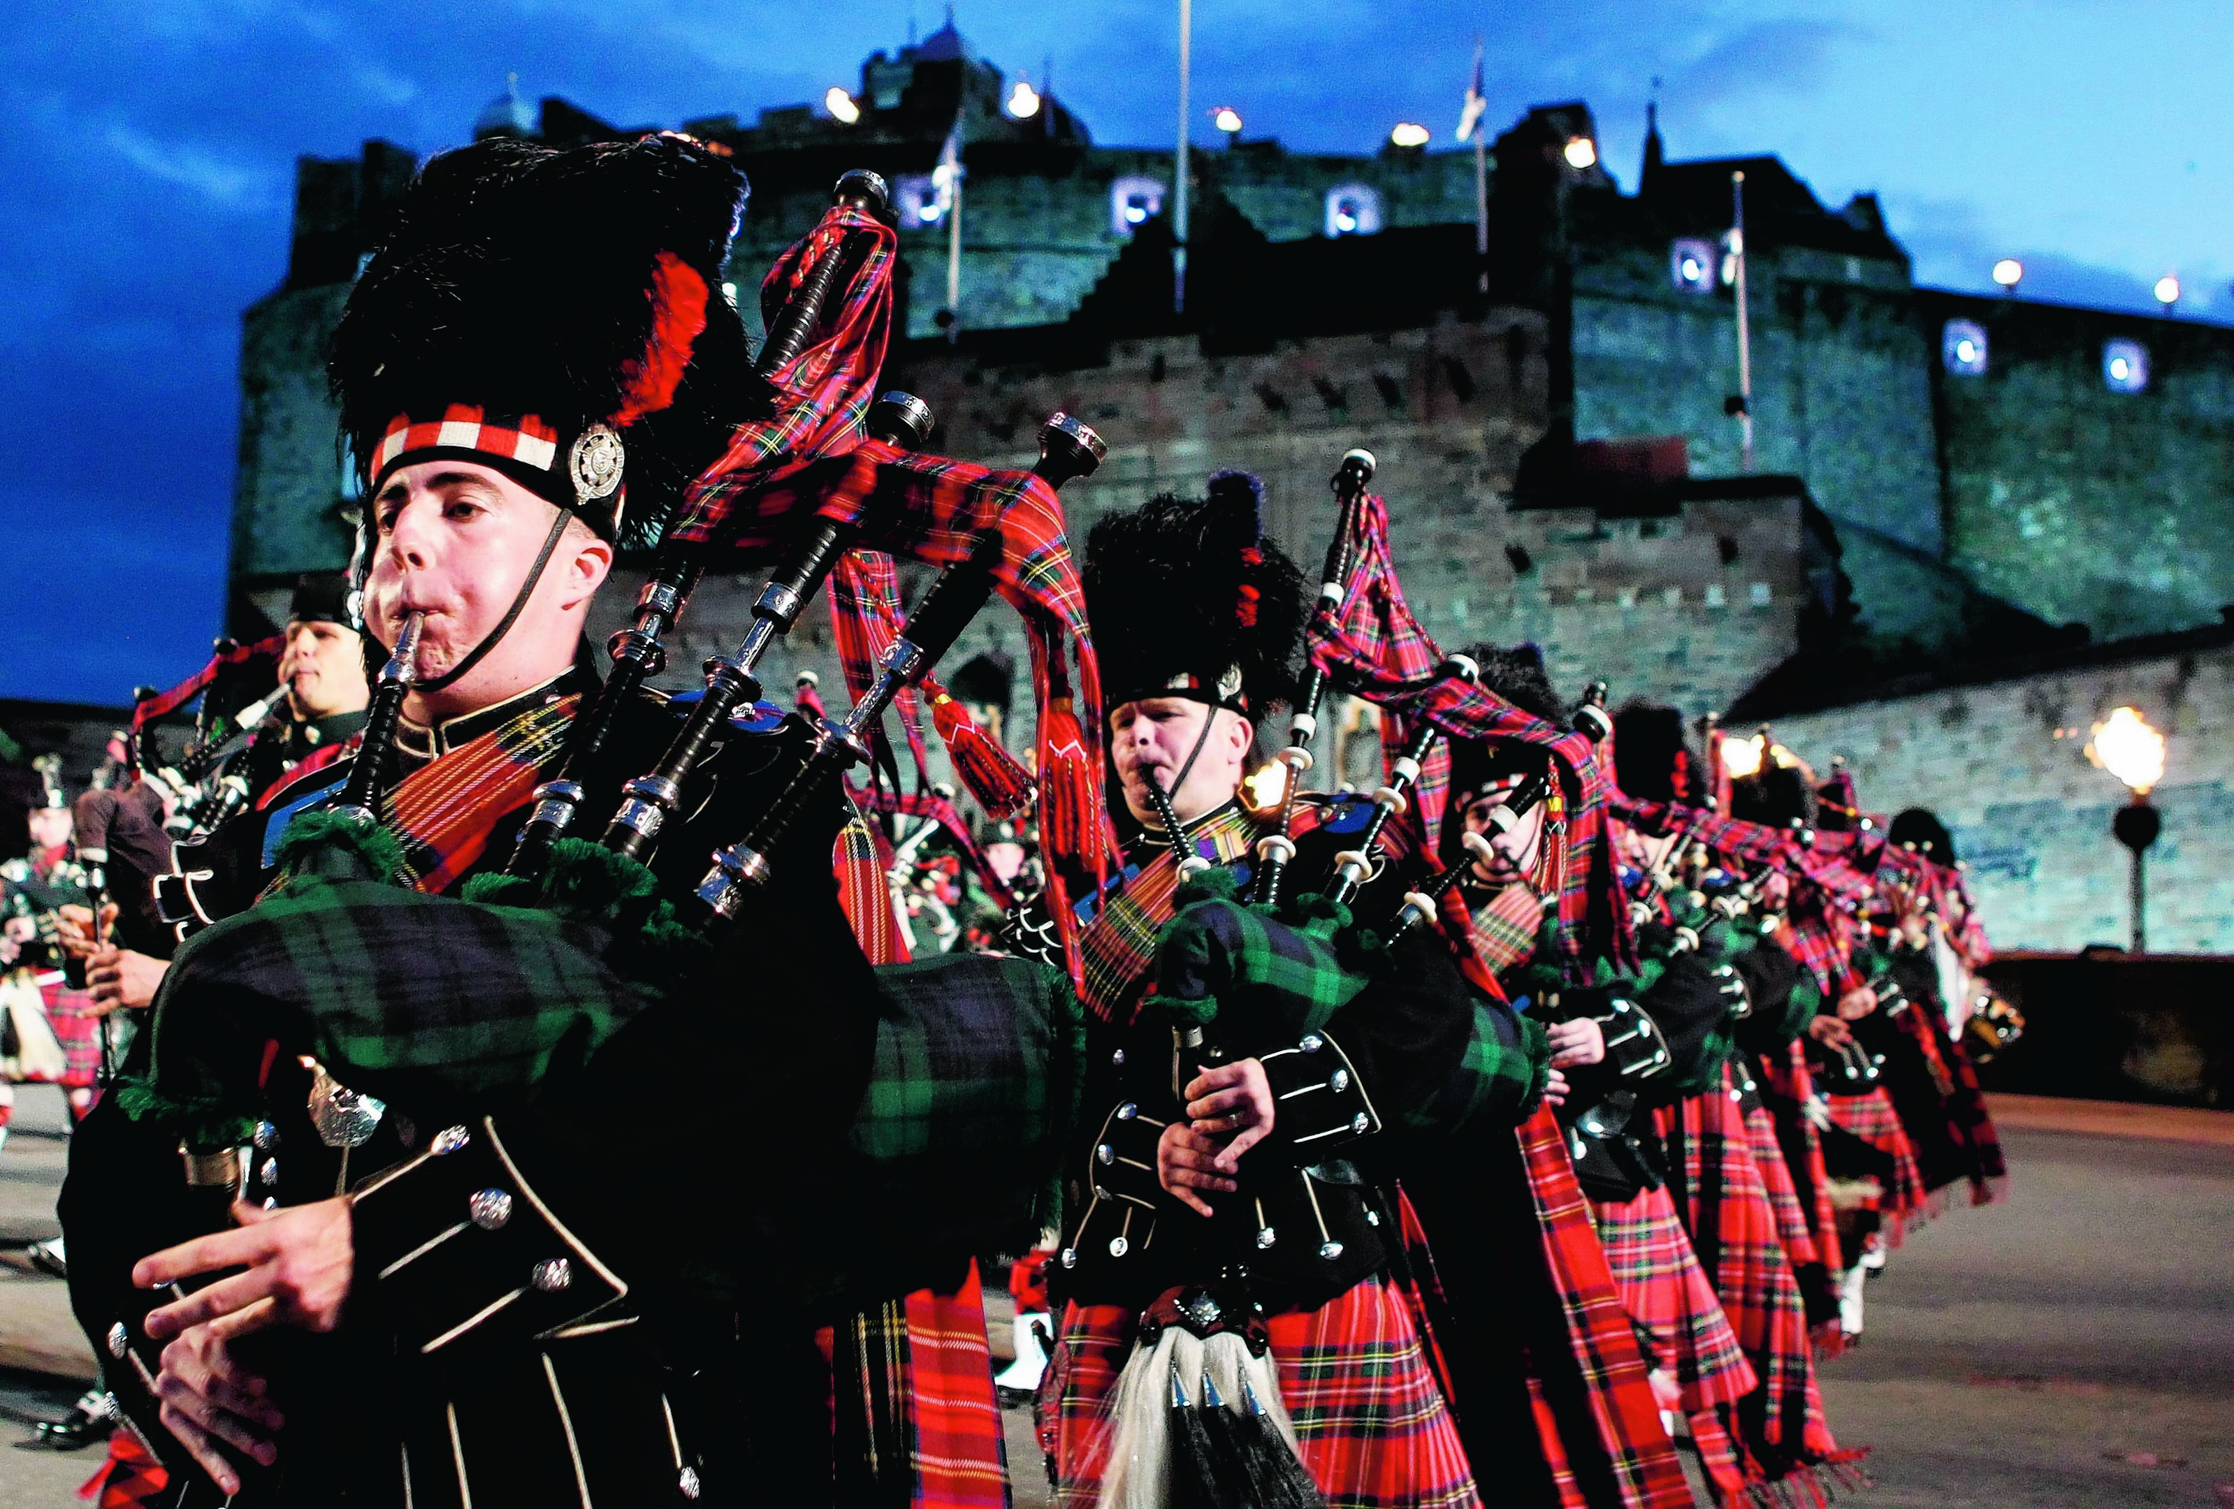
[[[366,498],[398,467],[469,460],[655,542],[764,397],[722,292],[744,194],[681,136],[429,158],[328,346]]]

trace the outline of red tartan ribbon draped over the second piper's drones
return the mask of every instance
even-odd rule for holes
[[[1325,670],[1336,688],[1383,710],[1385,761],[1396,759],[1412,719],[1434,723],[1448,739],[1517,739],[1544,746],[1559,768],[1568,797],[1568,853],[1584,857],[1582,864],[1568,864],[1559,886],[1559,949],[1575,969],[1586,962],[1593,942],[1613,958],[1629,958],[1629,917],[1620,909],[1606,917],[1611,938],[1588,938],[1593,880],[1613,873],[1604,828],[1611,786],[1597,766],[1591,739],[1521,712],[1488,688],[1434,674],[1443,652],[1405,603],[1387,531],[1387,502],[1378,496],[1361,498],[1349,518],[1347,545],[1354,563],[1349,596],[1338,612],[1318,612],[1311,618],[1305,636],[1311,663]],[[1436,741],[1421,761],[1412,806],[1403,819],[1414,824],[1414,839],[1423,853],[1432,855],[1436,848],[1448,797],[1450,748]]]

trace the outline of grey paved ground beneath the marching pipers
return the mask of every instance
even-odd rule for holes
[[[25,1092],[0,1150],[0,1248],[54,1230],[47,1100]],[[2004,1127],[2011,1199],[1917,1232],[1870,1286],[1863,1346],[1823,1368],[1832,1429],[1874,1446],[1859,1509],[2234,1509],[2234,1116],[2013,1103]],[[69,1404],[51,1373],[83,1351],[60,1286],[0,1266],[0,1446]],[[7,1366],[25,1355],[60,1359]],[[1023,1411],[1008,1424],[1016,1509],[1039,1509]],[[0,1505],[63,1509],[94,1464],[0,1449]]]

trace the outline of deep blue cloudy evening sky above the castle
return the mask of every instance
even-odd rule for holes
[[[31,0],[0,38],[0,696],[123,703],[223,609],[241,310],[286,268],[293,161],[469,136],[516,69],[623,125],[820,98],[927,33],[929,0]],[[992,60],[1108,145],[1171,141],[1175,0],[963,0]],[[1195,0],[1195,138],[1452,145],[1474,36],[1488,121],[1588,100],[1635,188],[1660,78],[1671,158],[1774,152],[1883,196],[1917,279],[2234,321],[2223,0]]]

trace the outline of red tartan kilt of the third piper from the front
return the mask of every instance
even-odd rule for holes
[[[1758,1388],[1754,1364],[1745,1359],[1738,1333],[1698,1266],[1667,1185],[1629,1201],[1595,1203],[1593,1214],[1622,1308],[1651,1333],[1651,1362],[1669,1368],[1682,1386],[1682,1411],[1696,1415],[1736,1404]]]

